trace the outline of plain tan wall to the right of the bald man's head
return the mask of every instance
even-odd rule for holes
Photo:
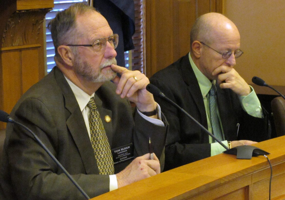
[[[226,0],[223,13],[239,29],[244,55],[236,69],[251,83],[258,76],[285,94],[285,1]],[[257,93],[278,95],[269,88],[254,85]]]

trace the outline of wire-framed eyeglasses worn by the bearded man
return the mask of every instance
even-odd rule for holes
[[[101,54],[102,52],[105,51],[106,49],[106,41],[108,41],[110,43],[110,45],[116,49],[116,47],[118,46],[118,42],[119,42],[119,35],[118,34],[113,34],[110,35],[108,37],[103,37],[100,39],[96,39],[93,44],[91,45],[66,45],[66,46],[83,46],[83,47],[92,47],[94,53],[96,54]]]

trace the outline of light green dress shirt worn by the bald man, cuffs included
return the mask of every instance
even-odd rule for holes
[[[203,73],[198,69],[198,67],[195,65],[194,61],[192,60],[190,53],[189,53],[189,61],[192,66],[192,69],[195,73],[195,76],[198,80],[199,87],[203,96],[203,101],[205,105],[206,115],[207,115],[207,123],[208,123],[208,130],[210,133],[213,133],[212,125],[211,125],[211,119],[210,119],[210,109],[209,109],[209,91],[211,89],[212,83],[215,84],[216,80],[213,80],[212,82],[205,76]],[[251,86],[250,86],[251,87]],[[249,115],[253,117],[259,117],[262,118],[262,108],[260,105],[260,102],[258,100],[258,97],[253,89],[251,87],[251,93],[247,96],[239,96],[239,100],[241,102],[241,105],[243,107],[243,110],[246,111]],[[221,123],[221,118],[219,114],[219,110],[217,109],[219,121]],[[239,126],[237,124],[237,126]],[[222,132],[223,132],[223,126],[221,125]],[[237,133],[238,134],[238,133]],[[225,134],[223,132],[223,139],[222,143],[224,143],[227,146],[227,140],[225,140]],[[225,151],[225,148],[222,147],[219,143],[214,142],[213,138],[209,136],[209,142],[211,143],[211,156],[217,155],[219,153],[222,153]]]

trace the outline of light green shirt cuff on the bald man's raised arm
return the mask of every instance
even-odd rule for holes
[[[249,95],[239,96],[239,101],[241,102],[243,110],[253,117],[263,118],[260,101],[253,87],[249,87],[251,88],[251,93],[249,93]]]

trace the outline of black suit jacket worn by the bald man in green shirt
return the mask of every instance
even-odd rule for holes
[[[205,128],[207,118],[198,80],[190,65],[188,54],[170,66],[158,71],[150,82],[177,103]],[[228,141],[269,139],[270,124],[263,109],[264,118],[248,115],[231,89],[217,87],[217,102],[225,138]],[[211,156],[209,136],[192,119],[160,97],[155,97],[169,123],[165,148],[164,170],[172,169]],[[237,135],[237,123],[239,133]]]

